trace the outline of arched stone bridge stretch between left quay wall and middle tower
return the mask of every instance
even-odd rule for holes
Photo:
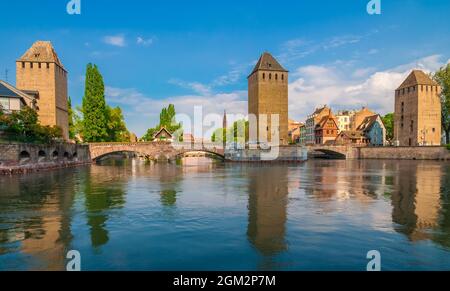
[[[149,160],[174,161],[182,157],[211,156],[224,159],[224,150],[217,144],[171,144],[170,142],[91,143],[92,160],[99,160],[114,153],[132,152]]]

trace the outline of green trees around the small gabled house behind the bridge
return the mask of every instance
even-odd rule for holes
[[[180,142],[183,141],[183,128],[180,123],[175,120],[176,111],[173,104],[169,104],[167,108],[163,108],[159,115],[159,124],[154,128],[147,130],[147,133],[142,137],[144,141],[153,141],[153,136],[165,127],[175,138]]]

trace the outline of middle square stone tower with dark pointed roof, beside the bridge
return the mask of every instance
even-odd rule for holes
[[[287,145],[289,142],[288,71],[267,52],[260,57],[248,77],[248,103],[249,115],[254,115],[257,119],[258,140],[264,141],[262,137],[267,136],[269,143],[276,143],[277,141],[272,140],[273,131],[279,130],[280,144]],[[272,128],[271,115],[279,116],[279,129],[275,126]],[[267,120],[267,127],[263,126],[265,120]],[[267,135],[261,134],[261,130],[266,130]]]

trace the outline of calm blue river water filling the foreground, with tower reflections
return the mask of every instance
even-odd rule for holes
[[[0,177],[0,270],[450,270],[450,165],[100,165]]]

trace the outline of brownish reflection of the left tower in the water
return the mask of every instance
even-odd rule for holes
[[[12,269],[62,270],[73,238],[74,173],[5,177],[0,189],[0,256],[20,252],[31,258],[11,262]]]

